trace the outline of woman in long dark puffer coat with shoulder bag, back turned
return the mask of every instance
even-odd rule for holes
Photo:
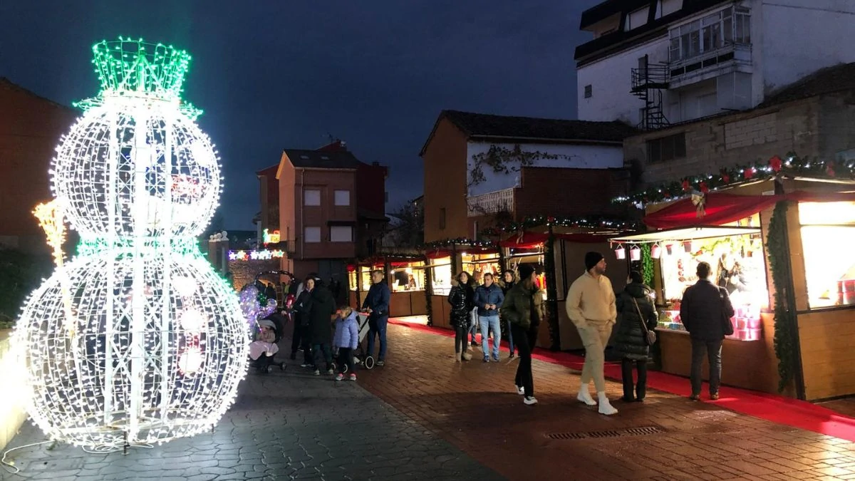
[[[633,270],[629,273],[629,283],[617,296],[617,324],[615,348],[621,354],[621,373],[623,377],[623,401],[644,401],[647,389],[647,358],[650,346],[647,344],[644,323],[647,330],[656,329],[658,320],[656,306],[651,297],[652,290],[644,285],[641,273]],[[633,365],[638,370],[639,380],[633,396]]]

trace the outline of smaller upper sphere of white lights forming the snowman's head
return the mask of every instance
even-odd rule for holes
[[[107,95],[62,138],[56,199],[83,237],[133,235],[140,218],[151,236],[199,235],[220,198],[214,148],[177,102],[136,104]]]

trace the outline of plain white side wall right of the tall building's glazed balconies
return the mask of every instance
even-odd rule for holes
[[[755,19],[759,3],[762,11]],[[769,93],[820,68],[855,62],[849,40],[855,25],[852,0],[754,0],[751,6],[752,43],[755,51],[758,45],[763,50],[764,85],[755,92]]]

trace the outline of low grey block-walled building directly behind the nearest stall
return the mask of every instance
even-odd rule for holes
[[[855,63],[823,68],[766,98],[752,110],[687,122],[624,140],[628,164],[641,181],[657,184],[686,175],[768,159],[855,159]]]

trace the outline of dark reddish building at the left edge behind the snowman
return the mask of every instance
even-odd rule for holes
[[[0,245],[47,251],[32,209],[51,199],[50,160],[77,116],[0,77]]]

